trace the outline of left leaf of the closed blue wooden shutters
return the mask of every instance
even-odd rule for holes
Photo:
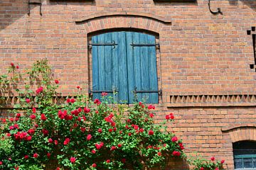
[[[115,45],[111,45],[115,44]],[[104,33],[92,37],[92,94],[117,90],[116,101],[128,101],[125,32]]]

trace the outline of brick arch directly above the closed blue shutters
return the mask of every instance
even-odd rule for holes
[[[86,33],[94,33],[100,30],[125,28],[149,30],[150,32],[160,33],[162,28],[165,26],[164,22],[156,20],[155,18],[134,15],[90,18],[85,22],[76,22],[76,24],[82,25],[85,28]]]

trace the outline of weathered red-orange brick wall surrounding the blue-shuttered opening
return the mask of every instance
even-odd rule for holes
[[[212,10],[220,7],[223,15],[210,13],[206,0],[42,1],[42,16],[37,5],[31,5],[28,16],[27,1],[1,0],[1,73],[10,62],[18,63],[23,72],[47,58],[64,96],[75,93],[78,85],[86,92],[91,83],[90,37],[111,29],[147,31],[160,43],[157,62],[163,96],[156,119],[174,112],[176,123],[170,130],[184,140],[186,152],[226,159],[233,169],[232,142],[256,140],[255,100],[223,99],[256,94],[256,73],[249,67],[254,62],[252,37],[246,34],[256,26],[256,1],[212,1]],[[180,99],[174,103],[171,96]],[[248,134],[240,138],[244,132]]]

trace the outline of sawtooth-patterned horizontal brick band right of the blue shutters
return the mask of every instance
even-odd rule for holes
[[[256,106],[256,94],[172,95],[169,96],[166,106],[168,108]]]

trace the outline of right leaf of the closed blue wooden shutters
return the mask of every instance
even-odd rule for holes
[[[129,103],[135,100],[132,91],[138,101],[158,103],[155,41],[152,35],[127,32]]]

